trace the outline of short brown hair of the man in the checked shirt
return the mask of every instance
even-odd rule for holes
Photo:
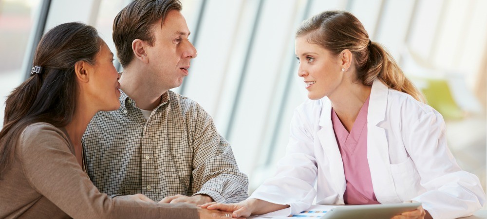
[[[134,0],[113,20],[113,42],[123,67],[133,58],[132,41],[141,39],[153,45],[152,26],[160,18],[164,21],[171,10],[181,11],[179,0]]]

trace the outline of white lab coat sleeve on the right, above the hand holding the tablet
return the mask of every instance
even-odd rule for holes
[[[463,171],[451,154],[445,122],[436,111],[422,114],[405,129],[406,149],[426,192],[413,198],[433,218],[458,218],[482,208],[486,201],[479,178]]]

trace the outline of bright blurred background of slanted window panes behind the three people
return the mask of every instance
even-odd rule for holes
[[[5,97],[32,68],[39,37],[64,22],[93,25],[115,53],[112,21],[130,0],[0,0],[0,122]],[[306,99],[294,33],[325,10],[358,17],[447,123],[449,147],[486,183],[487,0],[182,0],[198,50],[174,89],[200,103],[230,141],[250,192],[285,153]],[[119,63],[115,66],[120,69]]]

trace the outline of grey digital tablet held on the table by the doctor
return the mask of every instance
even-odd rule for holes
[[[412,211],[420,205],[421,203],[415,202],[340,206],[328,211],[321,219],[390,219],[394,215]]]

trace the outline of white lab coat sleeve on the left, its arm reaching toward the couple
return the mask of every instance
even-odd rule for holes
[[[308,209],[316,197],[318,175],[313,149],[313,133],[302,110],[295,110],[291,120],[286,155],[277,164],[276,174],[264,181],[250,198],[290,205],[287,216]]]

